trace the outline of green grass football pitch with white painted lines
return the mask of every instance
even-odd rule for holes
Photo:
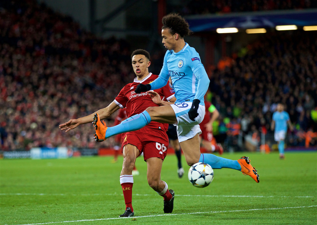
[[[125,210],[119,182],[122,157],[0,160],[0,225],[3,224],[317,224],[317,153],[223,154],[249,156],[260,183],[240,171],[214,171],[206,188],[177,176],[174,155],[163,163],[161,178],[175,191],[172,214],[147,184],[139,157],[134,176],[135,218]],[[183,165],[185,160],[183,157]],[[184,166],[188,171],[189,166]],[[109,219],[110,218],[110,219]],[[52,223],[54,222],[54,223]]]

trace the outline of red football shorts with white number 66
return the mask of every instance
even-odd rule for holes
[[[167,154],[168,137],[163,130],[143,127],[137,131],[125,133],[125,137],[122,137],[121,151],[127,144],[136,146],[140,151],[139,155],[143,152],[144,161],[152,157],[164,160]]]

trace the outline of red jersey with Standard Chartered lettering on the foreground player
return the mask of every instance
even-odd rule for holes
[[[139,84],[149,84],[157,77],[159,76],[150,73],[143,80],[137,80],[137,78],[135,78],[133,83],[129,83],[121,89],[114,102],[121,108],[126,107],[126,115],[128,117],[143,112],[144,110],[146,110],[147,107],[159,106],[152,101],[150,95],[147,92],[143,92],[140,94],[135,93],[135,89]],[[154,91],[157,92],[161,96],[161,98],[163,97],[162,100],[164,101],[170,100],[174,97],[175,94],[174,89],[170,85],[170,82],[167,82],[164,87],[156,89]],[[151,121],[151,123],[146,126],[154,129],[161,129],[164,131],[167,131],[168,128],[168,124],[162,124],[155,121]]]

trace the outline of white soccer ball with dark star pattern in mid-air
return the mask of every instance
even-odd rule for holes
[[[214,178],[214,170],[209,164],[195,163],[189,168],[188,179],[197,188],[207,187]]]

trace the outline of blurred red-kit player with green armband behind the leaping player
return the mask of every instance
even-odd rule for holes
[[[206,97],[206,96],[205,96]],[[201,134],[199,137],[201,138],[201,145],[207,151],[218,151],[220,155],[223,153],[223,147],[221,144],[212,144],[212,123],[218,118],[219,112],[214,105],[212,105],[209,101],[204,99],[205,102],[205,116],[203,121],[199,124],[201,129]]]

